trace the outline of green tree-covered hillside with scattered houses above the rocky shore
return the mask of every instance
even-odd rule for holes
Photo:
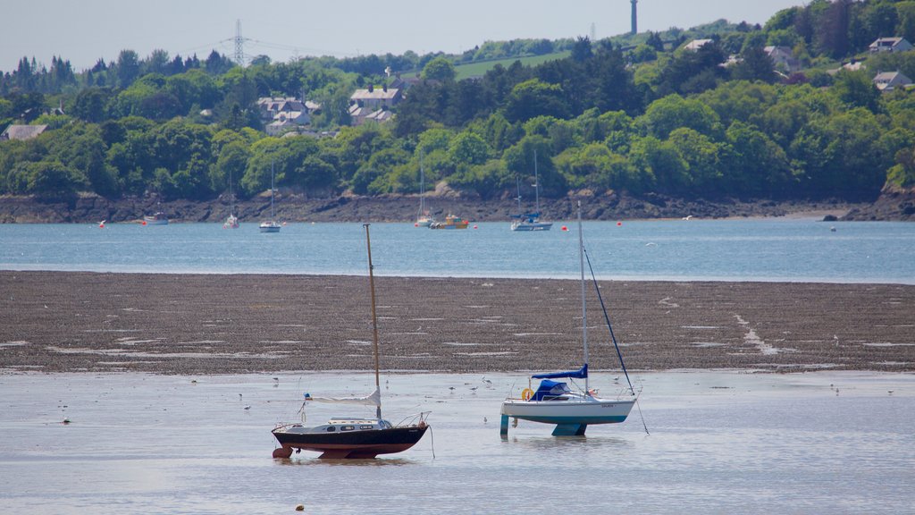
[[[880,71],[915,79],[915,51],[868,51],[877,38],[915,41],[915,1],[814,0],[763,27],[719,21],[689,31],[591,41],[487,42],[463,55],[305,58],[238,66],[212,52],[117,60],[73,71],[23,58],[0,75],[0,194],[109,199],[154,194],[210,200],[277,185],[307,196],[415,193],[482,199],[649,192],[684,198],[873,200],[915,185],[915,96],[877,89]],[[685,49],[693,38],[709,39]],[[782,70],[768,46],[787,48]],[[568,52],[535,66],[496,65],[455,80],[472,61]],[[842,68],[863,62],[863,67]],[[858,68],[854,70],[854,68]],[[350,126],[350,94],[422,71],[386,123]],[[387,72],[386,72],[387,71]],[[256,101],[321,104],[313,133],[270,137]],[[422,162],[421,162],[422,161]]]

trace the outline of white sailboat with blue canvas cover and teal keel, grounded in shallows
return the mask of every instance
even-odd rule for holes
[[[578,255],[581,266],[581,315],[582,344],[584,347],[584,365],[578,370],[534,374],[531,378],[542,379],[540,386],[533,390],[524,389],[520,398],[509,397],[502,402],[500,433],[508,434],[509,419],[555,424],[554,436],[583,435],[590,424],[618,423],[626,420],[637,400],[635,390],[630,382],[630,395],[626,398],[603,399],[588,386],[587,373],[587,304],[585,287],[585,244],[582,236],[581,204],[578,204]],[[598,291],[599,295],[599,291]],[[610,335],[613,336],[612,328]],[[613,337],[616,346],[616,338]],[[619,354],[619,363],[629,381],[629,373]],[[584,379],[584,388],[572,382],[575,389],[565,381],[554,379]]]

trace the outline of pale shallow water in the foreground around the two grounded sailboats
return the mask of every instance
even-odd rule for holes
[[[592,386],[612,390],[600,376]],[[481,376],[389,376],[387,418],[431,410],[433,431],[396,457],[355,462],[305,452],[274,460],[270,430],[295,416],[303,391],[367,393],[371,375],[277,378],[0,376],[0,506],[117,515],[292,513],[297,504],[307,513],[913,510],[912,375],[645,374],[651,434],[633,410],[583,438],[522,422],[505,441],[500,402],[525,378],[488,375],[487,389]],[[309,422],[340,410],[309,404]]]

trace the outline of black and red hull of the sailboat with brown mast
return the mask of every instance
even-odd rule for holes
[[[419,442],[428,426],[394,427],[350,433],[296,433],[284,428],[274,437],[284,449],[321,453],[321,458],[373,458],[401,453]]]

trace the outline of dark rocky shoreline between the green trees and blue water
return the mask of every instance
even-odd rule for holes
[[[727,200],[710,202],[701,199],[678,199],[657,194],[634,197],[609,192],[576,192],[562,199],[542,199],[545,217],[567,220],[575,216],[576,199],[583,200],[587,220],[623,220],[657,218],[728,218],[810,215],[822,218],[854,220],[915,220],[915,195],[898,193],[877,203],[842,201]],[[437,218],[458,214],[474,222],[511,220],[518,214],[518,204],[509,195],[497,200],[442,191],[426,198]],[[344,194],[313,198],[303,193],[281,191],[275,199],[276,217],[286,222],[409,222],[415,219],[419,199],[415,195],[363,197]],[[527,206],[530,207],[530,206]],[[911,209],[909,209],[911,207]],[[98,223],[131,222],[145,214],[162,211],[173,222],[221,223],[230,210],[228,196],[210,202],[170,201],[155,198],[126,198],[112,201],[96,195],[81,195],[67,200],[41,200],[24,196],[0,197],[0,223]],[[235,203],[235,214],[242,222],[264,220],[270,215],[269,196],[257,196]]]

